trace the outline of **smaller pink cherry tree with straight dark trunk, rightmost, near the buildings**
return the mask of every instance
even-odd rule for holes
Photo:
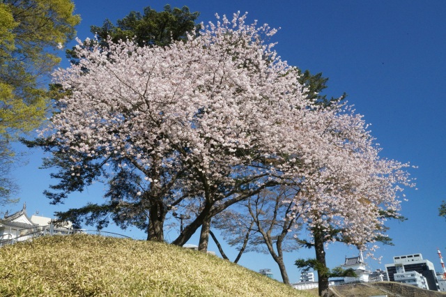
[[[337,116],[324,132],[330,152],[307,160],[316,170],[305,175],[296,197],[296,211],[305,214],[313,237],[321,296],[328,294],[324,245],[342,241],[373,254],[374,243],[385,238],[387,218],[399,218],[399,192],[413,186],[408,164],[380,158],[362,116],[332,108]]]

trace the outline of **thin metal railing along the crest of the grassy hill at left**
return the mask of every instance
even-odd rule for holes
[[[118,234],[114,232],[101,231],[101,230],[88,230],[88,229],[72,229],[72,228],[61,229],[61,228],[54,228],[54,225],[50,224],[48,226],[40,226],[29,229],[16,230],[15,236],[14,234],[10,233],[3,234],[3,236],[0,236],[0,247],[2,247],[3,245],[12,245],[14,243],[22,241],[32,241],[33,238],[37,238],[40,236],[70,235],[76,233],[133,239],[130,236],[125,236],[123,234]]]

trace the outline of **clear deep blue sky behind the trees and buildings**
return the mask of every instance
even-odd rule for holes
[[[102,25],[105,18],[115,22],[131,10],[142,10],[145,6],[162,10],[166,3],[75,0],[76,13],[82,17],[77,34],[81,39],[91,38],[89,26],[92,24]],[[408,220],[388,224],[394,246],[380,248],[376,256],[383,256],[383,260],[381,264],[368,260],[370,268],[384,268],[395,255],[422,253],[440,271],[437,248],[446,256],[446,221],[438,217],[438,206],[446,200],[446,1],[189,0],[168,3],[172,7],[188,6],[191,11],[199,11],[199,20],[203,22],[215,20],[215,13],[231,15],[240,10],[249,12],[248,22],[259,20],[261,24],[281,27],[273,40],[278,42],[276,50],[282,59],[330,77],[325,92],[328,96],[348,93],[348,101],[372,124],[372,135],[383,148],[381,156],[419,167],[411,170],[417,177],[418,190],[406,191],[409,201],[402,204],[402,214]],[[38,169],[41,158],[41,153],[32,152],[29,164],[14,172],[22,188],[21,202],[26,201],[30,215],[40,211],[40,215],[52,216],[54,211],[100,201],[102,185],[72,195],[64,205],[50,206],[42,192],[52,181],[48,171]],[[10,210],[20,207],[21,204]],[[167,231],[167,239],[173,240],[176,232]],[[126,234],[144,238],[135,229]],[[197,244],[197,237],[190,243]],[[210,250],[217,251],[217,248],[211,244]],[[342,264],[345,256],[355,254],[355,249],[330,245],[328,266]],[[313,257],[313,251],[287,254],[291,282],[296,282],[300,275],[293,266],[294,260],[300,257]],[[275,277],[280,278],[277,265],[269,255],[244,254],[239,264],[254,271],[271,268]]]

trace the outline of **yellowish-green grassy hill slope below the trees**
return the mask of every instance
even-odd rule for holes
[[[210,254],[92,235],[0,248],[0,296],[311,296]]]

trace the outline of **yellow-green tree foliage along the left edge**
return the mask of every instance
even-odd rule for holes
[[[75,34],[79,15],[70,0],[4,0],[0,3],[0,166],[14,161],[10,142],[36,129],[47,116],[45,75],[59,63],[54,50]],[[11,193],[1,173],[0,198]]]

